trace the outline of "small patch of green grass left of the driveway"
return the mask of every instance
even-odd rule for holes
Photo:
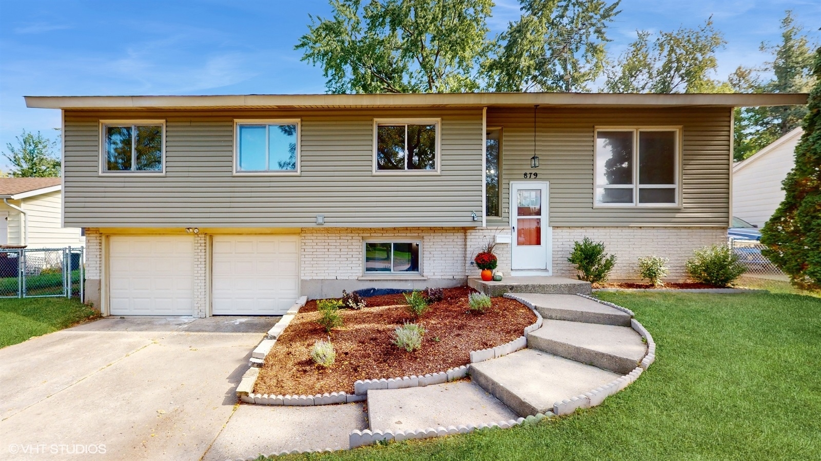
[[[78,299],[0,299],[0,348],[45,335],[94,315]]]

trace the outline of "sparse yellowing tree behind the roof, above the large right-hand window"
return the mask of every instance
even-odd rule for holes
[[[611,93],[714,93],[721,85],[710,78],[718,68],[715,53],[724,46],[712,18],[697,29],[646,30],[605,71],[604,91]]]

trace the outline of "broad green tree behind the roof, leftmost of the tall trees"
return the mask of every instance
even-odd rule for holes
[[[330,93],[479,89],[492,0],[331,0],[297,49],[323,67]]]

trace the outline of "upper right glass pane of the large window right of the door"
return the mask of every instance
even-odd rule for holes
[[[676,184],[676,133],[639,132],[639,184]]]

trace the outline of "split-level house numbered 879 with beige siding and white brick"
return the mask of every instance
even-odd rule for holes
[[[573,242],[725,241],[732,109],[805,94],[26,97],[62,110],[65,225],[103,314],[283,313],[300,294],[573,276]]]

